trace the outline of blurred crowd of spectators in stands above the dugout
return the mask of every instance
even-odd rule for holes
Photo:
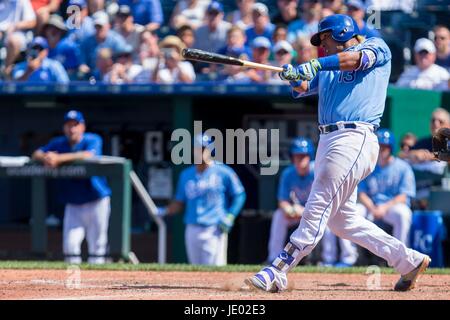
[[[370,10],[408,15],[416,6],[415,0],[0,0],[0,81],[281,83],[275,73],[192,63],[181,52],[193,47],[298,64],[324,54],[309,39],[325,16],[348,14],[365,37],[383,37],[383,25],[368,23]],[[448,90],[448,25],[430,26],[410,45],[411,65],[396,84]]]

